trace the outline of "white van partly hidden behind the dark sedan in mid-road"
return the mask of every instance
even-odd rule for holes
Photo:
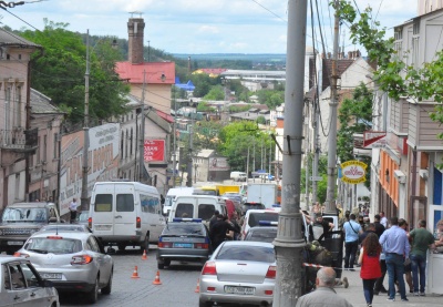
[[[174,217],[190,217],[207,222],[214,216],[216,209],[220,214],[227,215],[226,203],[222,197],[208,195],[177,196],[167,221],[173,222]]]

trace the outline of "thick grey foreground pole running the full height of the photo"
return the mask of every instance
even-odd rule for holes
[[[274,306],[292,307],[302,294],[302,250],[300,182],[303,134],[303,79],[306,57],[307,1],[288,1],[287,73],[285,89],[284,178],[281,212],[278,218],[277,280]]]

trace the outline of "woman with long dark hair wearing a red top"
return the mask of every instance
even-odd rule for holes
[[[374,285],[377,279],[381,277],[381,249],[379,237],[375,233],[368,233],[363,239],[359,256],[359,264],[361,265],[360,277],[363,280],[363,294],[368,307],[372,307]]]

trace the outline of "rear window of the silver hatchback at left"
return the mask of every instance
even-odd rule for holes
[[[70,238],[30,238],[23,246],[29,252],[41,254],[73,254],[82,250],[82,242],[80,239]]]

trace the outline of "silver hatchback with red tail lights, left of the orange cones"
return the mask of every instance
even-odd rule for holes
[[[41,232],[33,234],[18,250],[59,291],[82,291],[93,304],[99,289],[110,294],[114,263],[91,233]]]

